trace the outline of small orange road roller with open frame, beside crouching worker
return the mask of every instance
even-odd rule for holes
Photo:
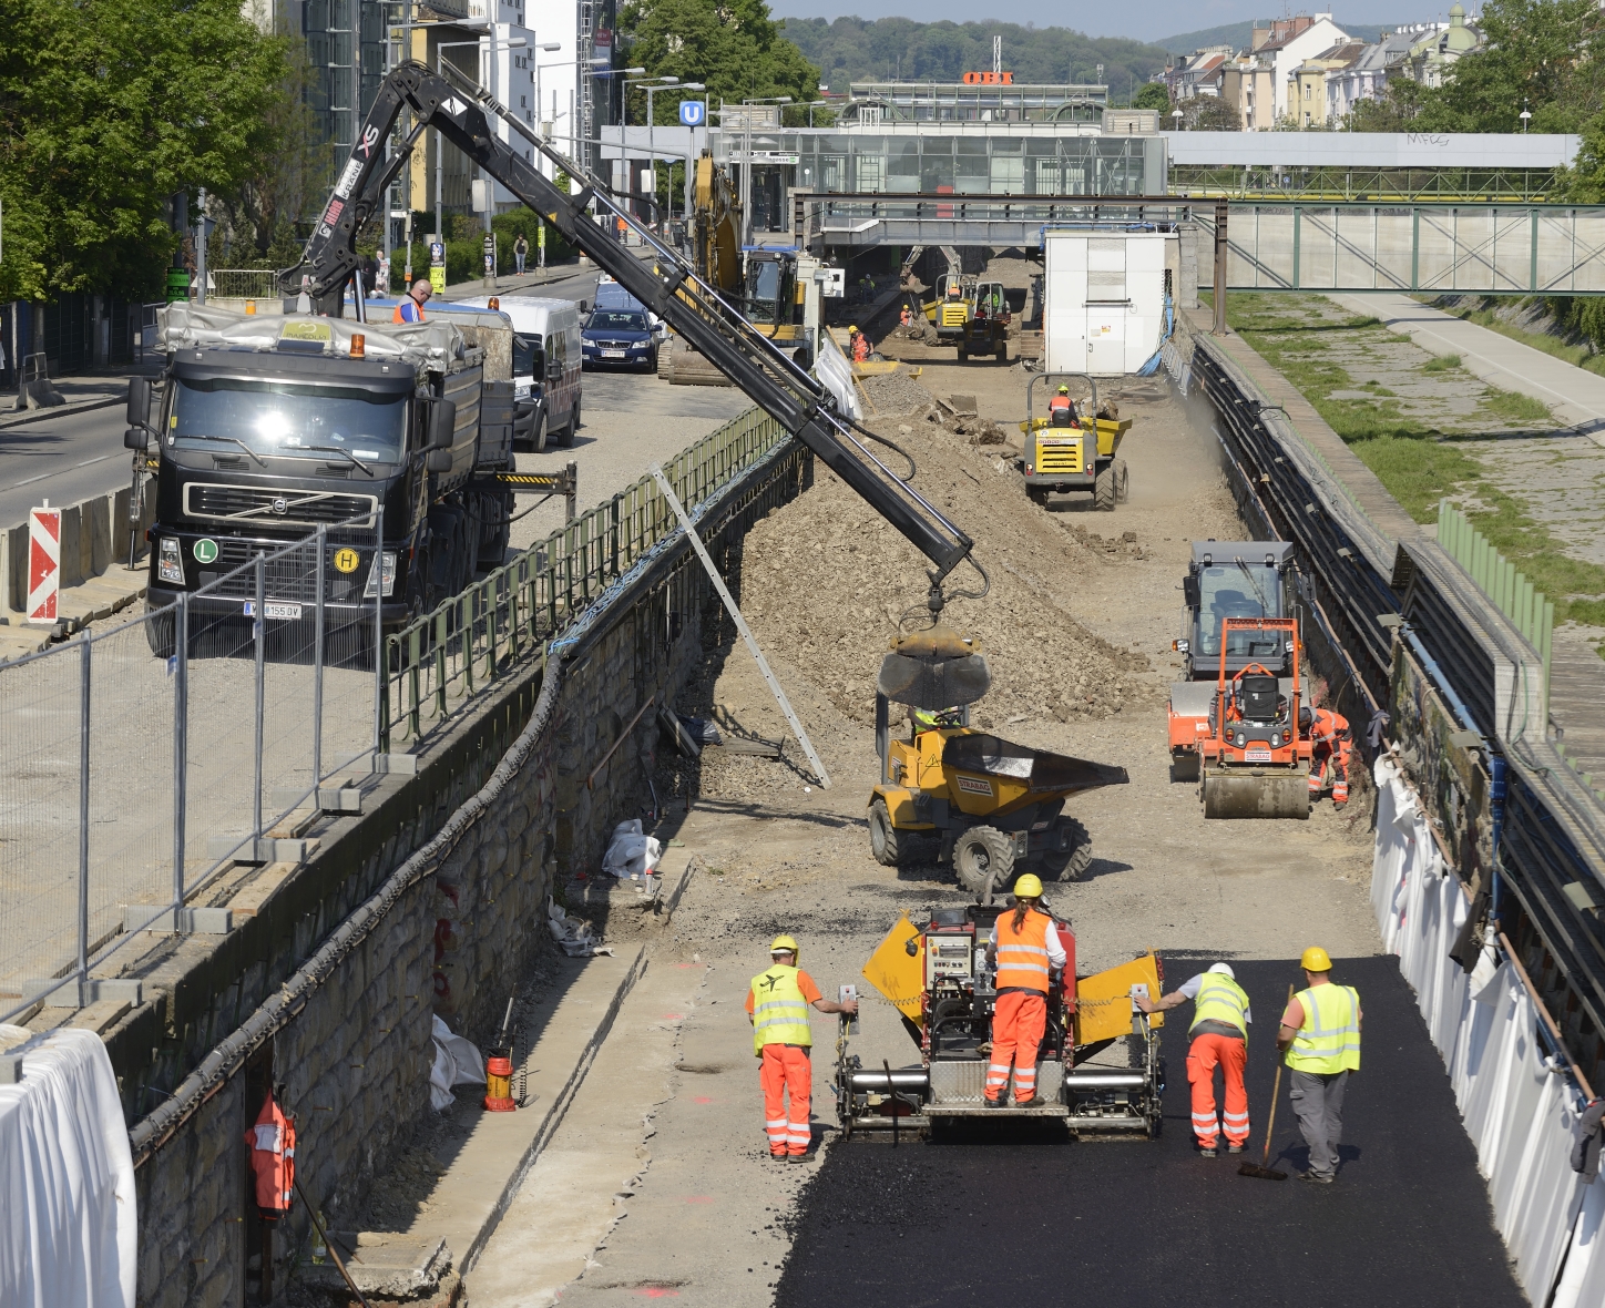
[[[1239,632],[1286,652],[1289,677],[1263,663],[1228,672],[1221,653],[1207,732],[1197,738],[1204,817],[1310,817],[1310,713],[1292,618],[1226,618],[1221,648]]]

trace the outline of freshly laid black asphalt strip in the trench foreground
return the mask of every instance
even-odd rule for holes
[[[1196,965],[1165,960],[1167,989]],[[1233,963],[1254,1001],[1249,1103],[1260,1160],[1273,1022],[1294,961]],[[1287,1104],[1273,1167],[1194,1152],[1186,1026],[1165,1027],[1165,1128],[1154,1143],[1029,1139],[1003,1123],[950,1143],[852,1141],[802,1196],[778,1308],[1087,1302],[1204,1305],[1523,1305],[1443,1062],[1387,957],[1339,960],[1359,989],[1361,1072],[1350,1080],[1337,1183],[1298,1180],[1308,1149]],[[981,1128],[977,1128],[979,1131]]]

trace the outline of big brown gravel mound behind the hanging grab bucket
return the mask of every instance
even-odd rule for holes
[[[1151,700],[1148,658],[1093,636],[1069,603],[1082,570],[1141,557],[1141,544],[1061,525],[1026,499],[1008,446],[974,446],[944,419],[958,425],[929,404],[923,419],[868,427],[908,451],[915,488],[974,539],[974,557],[992,578],[985,599],[953,600],[944,615],[982,642],[992,664],[992,692],[976,724],[1107,717]],[[891,451],[886,461],[902,465]],[[875,674],[899,621],[926,621],[926,568],[900,533],[815,461],[814,488],[746,538],[742,608],[766,648],[785,652],[843,714],[870,722]],[[960,568],[949,579],[949,591],[958,587],[981,589],[979,576]]]

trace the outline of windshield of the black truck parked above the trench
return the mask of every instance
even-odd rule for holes
[[[337,449],[398,464],[404,438],[403,393],[236,377],[180,377],[167,420],[169,445],[236,451],[244,445],[292,459],[326,459]]]

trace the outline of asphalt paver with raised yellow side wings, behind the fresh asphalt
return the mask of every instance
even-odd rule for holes
[[[1051,907],[1040,905],[1051,915]],[[913,923],[907,915],[886,934],[863,968],[863,979],[902,1014],[920,1061],[892,1066],[863,1061],[851,1048],[849,1022],[836,1042],[836,1117],[843,1135],[907,1131],[929,1136],[941,1123],[1042,1119],[1067,1131],[1156,1139],[1164,1122],[1164,1059],[1157,1029],[1164,1014],[1144,1014],[1133,987],[1151,998],[1164,989],[1160,960],[1149,950],[1130,963],[1075,976],[1075,936],[1056,915],[1054,929],[1069,960],[1053,977],[1048,1024],[1037,1053],[1037,1095],[1021,1107],[1005,1095],[1003,1107],[984,1099],[997,973],[985,945],[1003,905],[933,908]],[[1119,1054],[1127,1054],[1124,1059]]]

